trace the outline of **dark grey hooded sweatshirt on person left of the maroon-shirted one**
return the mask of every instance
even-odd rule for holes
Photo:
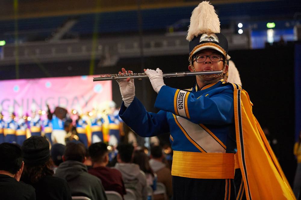
[[[89,174],[82,162],[73,160],[62,162],[54,176],[67,180],[72,196],[85,196],[92,200],[107,199],[101,180]]]

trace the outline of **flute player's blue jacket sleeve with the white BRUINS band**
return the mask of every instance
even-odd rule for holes
[[[223,125],[234,120],[233,90],[225,87],[211,96],[162,86],[155,107],[185,117],[197,124]]]

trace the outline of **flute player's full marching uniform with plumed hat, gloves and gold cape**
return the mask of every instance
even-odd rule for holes
[[[222,54],[225,73],[228,42],[209,2],[200,3],[192,12],[187,40],[191,70],[198,51],[213,49]],[[205,61],[211,60],[207,57]],[[145,74],[158,93],[155,107],[160,111],[145,110],[135,97],[132,79],[118,80],[123,98],[119,116],[142,137],[170,132],[175,200],[236,199],[235,148],[247,199],[295,199],[252,113],[249,95],[240,85],[218,80],[222,74],[202,75],[207,78],[203,80],[210,80],[203,81],[206,86],[180,90],[164,84],[160,69],[148,69]]]

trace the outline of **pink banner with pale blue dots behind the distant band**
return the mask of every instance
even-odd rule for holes
[[[9,106],[15,113],[23,107],[23,114],[36,110],[47,110],[48,104],[53,111],[56,106],[82,111],[91,111],[93,107],[112,100],[112,82],[93,82],[92,76],[55,77],[39,79],[20,79],[0,81],[0,106],[2,114],[8,115]]]

